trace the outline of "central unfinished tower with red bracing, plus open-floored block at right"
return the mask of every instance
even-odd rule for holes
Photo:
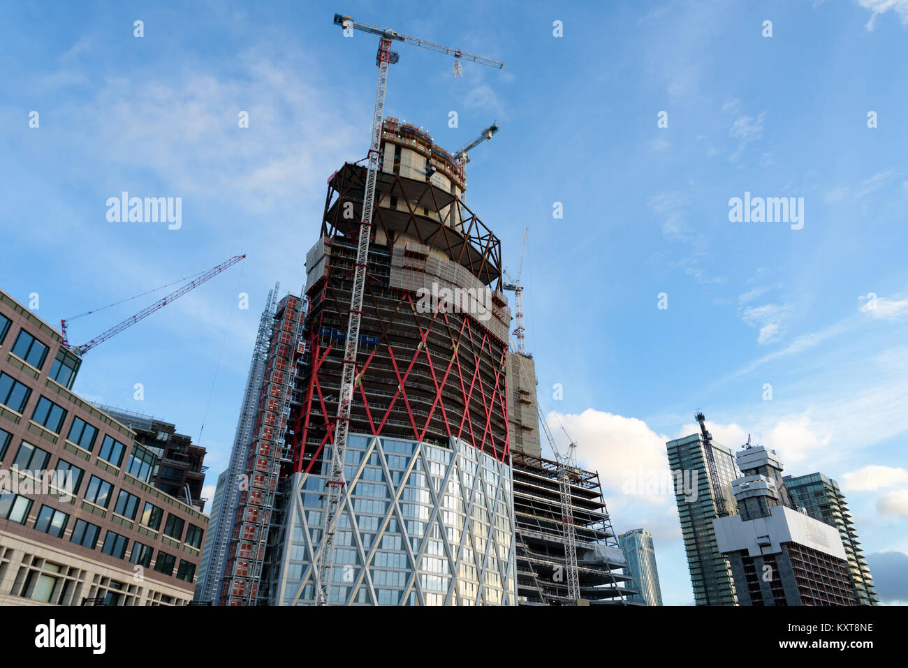
[[[532,360],[508,359],[498,237],[463,201],[467,161],[429,133],[385,119],[380,154],[329,603],[563,604],[555,463],[539,457]],[[262,314],[206,600],[316,603],[366,178],[331,174],[304,294]],[[518,401],[533,415],[509,423]],[[621,602],[632,581],[601,489],[575,473],[584,598]]]

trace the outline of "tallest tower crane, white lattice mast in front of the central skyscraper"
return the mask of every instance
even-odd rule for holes
[[[315,587],[316,603],[327,605],[331,594],[331,567],[334,563],[335,525],[341,502],[341,491],[345,485],[343,475],[344,455],[347,448],[347,435],[350,430],[350,403],[353,399],[353,381],[356,378],[356,356],[360,342],[360,318],[362,300],[366,287],[366,268],[369,260],[371,240],[372,210],[375,206],[375,184],[379,172],[381,147],[381,121],[384,116],[385,89],[388,84],[388,67],[400,60],[400,54],[391,51],[393,42],[402,42],[419,46],[439,54],[453,55],[456,61],[469,60],[473,63],[488,65],[501,69],[504,64],[480,55],[468,54],[459,49],[435,44],[428,40],[410,37],[397,33],[390,28],[372,24],[360,24],[347,15],[334,15],[334,25],[348,31],[359,30],[379,37],[379,49],[375,54],[375,64],[379,68],[379,80],[375,91],[375,109],[372,114],[369,154],[366,158],[366,188],[362,198],[362,216],[360,218],[359,240],[357,241],[356,262],[353,270],[353,287],[350,293],[350,318],[347,321],[347,341],[343,358],[341,389],[338,398],[337,419],[334,426],[334,440],[331,443],[331,465],[325,480],[325,512],[322,525],[321,550],[315,559],[315,575],[318,582]]]

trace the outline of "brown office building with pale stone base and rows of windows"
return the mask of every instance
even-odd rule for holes
[[[81,365],[0,291],[0,604],[186,604],[208,518],[151,484],[133,429],[73,393]]]

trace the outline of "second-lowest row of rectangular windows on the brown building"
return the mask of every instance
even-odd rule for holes
[[[9,432],[0,429],[0,459],[5,455],[10,440],[11,435]],[[12,466],[22,471],[41,472],[47,470],[50,458],[51,454],[46,450],[33,446],[27,441],[23,441],[15,454]],[[79,493],[79,488],[82,486],[82,480],[85,473],[84,470],[67,462],[62,457],[57,459],[56,468],[54,470],[58,474],[56,477],[58,485],[65,486],[66,491],[73,496],[77,495]],[[40,473],[35,473],[35,476],[40,477]],[[86,501],[93,503],[95,506],[109,508],[113,495],[114,485],[111,483],[98,476],[91,476],[88,479],[88,485],[85,487],[84,492],[84,499]],[[134,521],[139,511],[139,503],[140,499],[138,496],[130,494],[125,489],[121,489],[116,497],[116,502],[114,503],[114,513]],[[155,506],[151,502],[145,502],[142,516],[139,519],[140,524],[148,526],[154,531],[160,531],[162,521],[163,509]],[[174,540],[181,540],[183,538],[183,528],[185,528],[185,526],[186,521],[182,517],[173,515],[173,513],[168,513],[167,521],[164,523],[163,527],[163,534],[170,536]],[[186,531],[184,542],[186,545],[201,549],[202,534],[203,529],[201,526],[190,524]]]

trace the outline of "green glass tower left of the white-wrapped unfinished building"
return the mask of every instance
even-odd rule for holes
[[[725,555],[716,547],[713,519],[718,516],[713,481],[706,461],[706,447],[716,461],[717,487],[725,511],[735,513],[731,484],[737,477],[732,451],[702,434],[668,441],[668,465],[675,474],[675,498],[681,533],[684,536],[687,566],[697,605],[735,605],[735,581]]]

